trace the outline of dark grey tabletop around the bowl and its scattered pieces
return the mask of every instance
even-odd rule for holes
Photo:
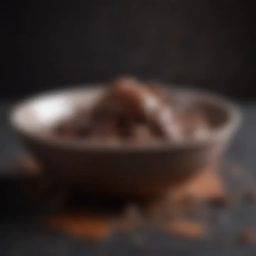
[[[173,238],[165,234],[150,233],[145,245],[139,245],[129,236],[116,236],[101,242],[89,242],[45,230],[29,219],[34,214],[30,203],[21,196],[14,179],[19,174],[15,158],[23,152],[23,147],[13,133],[8,114],[12,102],[0,102],[0,255],[2,256],[105,256],[105,255],[256,255],[256,246],[241,246],[238,243],[223,246],[206,237],[200,240]],[[256,178],[256,104],[241,103],[243,121],[240,130],[225,159],[231,159],[244,167],[243,179],[255,183]],[[239,180],[233,187],[247,186]],[[243,226],[256,228],[256,206],[241,204],[231,209],[228,222],[220,232],[234,234]]]

